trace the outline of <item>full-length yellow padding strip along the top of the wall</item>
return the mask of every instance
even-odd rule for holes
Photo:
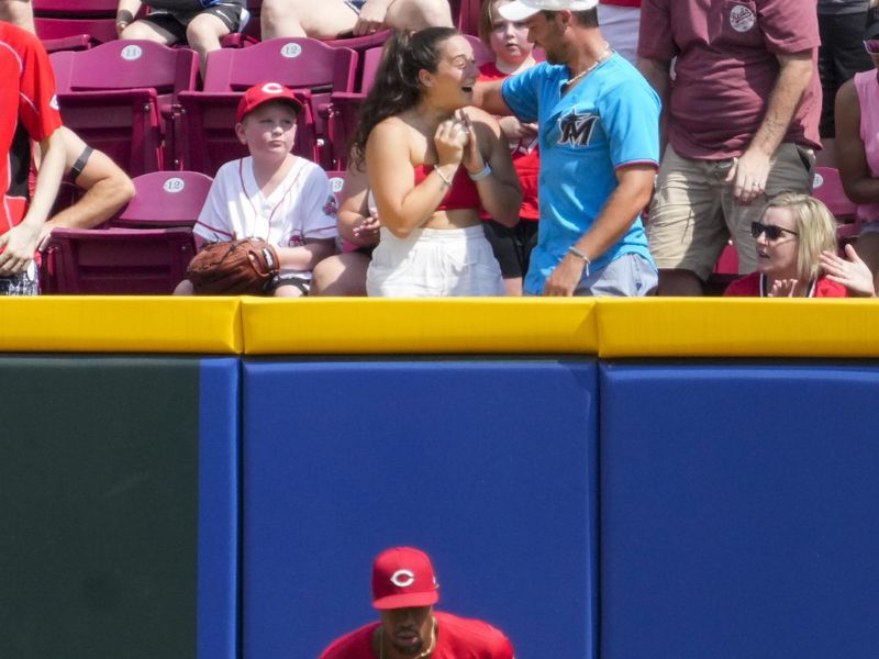
[[[879,302],[0,298],[0,351],[879,357]]]

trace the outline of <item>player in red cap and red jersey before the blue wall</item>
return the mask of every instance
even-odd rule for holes
[[[481,621],[434,611],[439,585],[426,554],[393,547],[372,563],[381,622],[333,641],[320,659],[514,659],[510,639]]]

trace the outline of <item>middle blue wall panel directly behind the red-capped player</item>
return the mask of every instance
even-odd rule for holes
[[[597,381],[587,360],[245,361],[243,659],[377,619],[396,545],[519,657],[593,657]]]

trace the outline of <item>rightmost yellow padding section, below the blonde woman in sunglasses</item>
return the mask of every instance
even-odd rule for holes
[[[876,300],[603,299],[599,356],[879,357]]]

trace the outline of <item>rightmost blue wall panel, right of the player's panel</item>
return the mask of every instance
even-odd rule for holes
[[[601,659],[879,657],[879,368],[600,382]]]

